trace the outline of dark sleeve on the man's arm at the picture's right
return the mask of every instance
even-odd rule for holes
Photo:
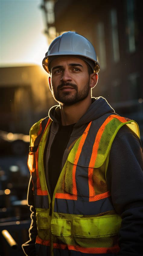
[[[141,142],[126,126],[111,147],[107,185],[122,217],[119,256],[143,255],[143,155]]]

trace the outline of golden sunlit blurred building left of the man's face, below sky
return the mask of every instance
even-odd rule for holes
[[[30,127],[55,105],[48,74],[40,66],[0,68],[0,129],[29,134]]]

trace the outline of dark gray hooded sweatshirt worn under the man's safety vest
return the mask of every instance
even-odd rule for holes
[[[95,134],[97,134],[97,131],[106,118],[114,113],[115,111],[111,108],[106,99],[102,97],[92,98],[92,104],[87,112],[73,127],[63,154],[62,168],[74,142],[83,134],[88,123],[96,121]],[[45,154],[46,173],[50,148],[60,125],[59,106],[54,106],[50,109],[49,117],[53,122]],[[47,121],[47,119],[45,120]],[[143,254],[143,155],[141,141],[126,125],[119,129],[113,141],[106,179],[113,206],[116,212],[122,217],[122,224],[119,230],[119,246],[121,250],[118,254],[108,255],[141,256]],[[32,205],[32,224],[30,228],[30,241],[23,245],[23,249],[27,255],[36,255],[35,239],[37,226],[32,187],[32,182],[30,182],[28,204]]]

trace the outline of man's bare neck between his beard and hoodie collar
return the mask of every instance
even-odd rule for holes
[[[91,98],[88,97],[74,105],[60,105],[62,125],[72,125],[77,123],[78,120],[86,113],[90,105]]]

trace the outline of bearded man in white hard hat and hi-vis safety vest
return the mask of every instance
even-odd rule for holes
[[[138,125],[91,98],[99,64],[86,38],[66,32],[43,67],[59,103],[30,129],[27,255],[143,253],[143,162]],[[33,198],[34,194],[34,198]]]

